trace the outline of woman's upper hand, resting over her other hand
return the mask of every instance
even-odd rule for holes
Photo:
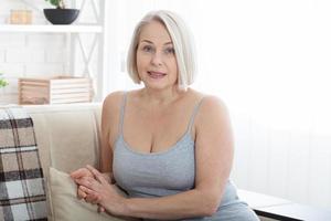
[[[126,198],[118,193],[117,187],[110,185],[94,167],[87,165],[86,168],[94,175],[94,178],[83,177],[75,179],[75,182],[87,193],[87,201],[102,206],[110,214],[125,215]]]

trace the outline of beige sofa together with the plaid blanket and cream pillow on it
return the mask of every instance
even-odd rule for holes
[[[0,220],[45,220],[45,217],[47,220],[61,221],[131,220],[97,213],[97,206],[76,198],[76,185],[68,176],[71,171],[86,165],[96,168],[99,166],[100,103],[33,105],[22,106],[22,108],[2,106],[1,108],[0,165],[1,179],[4,182],[0,183]],[[8,118],[4,116],[6,113],[10,113]],[[14,115],[18,115],[18,118],[11,117]],[[21,118],[22,115],[24,117]],[[29,120],[29,116],[32,118],[33,125]],[[21,125],[22,120],[28,122]],[[34,128],[34,133],[31,128]],[[17,136],[12,136],[12,134],[17,134]],[[23,143],[26,143],[28,146],[33,144],[33,151],[34,154],[39,152],[39,159],[38,154],[31,158],[33,151],[29,152],[28,150],[26,154],[24,148],[32,148],[32,146],[22,146]],[[8,144],[15,145],[8,147]],[[35,146],[38,150],[35,150]],[[9,150],[17,152],[10,154],[12,157],[10,160],[6,155]],[[7,161],[3,161],[6,159]],[[42,168],[39,177],[29,178],[31,169],[24,167],[32,168],[32,165],[34,171]],[[10,169],[6,170],[6,167]],[[17,169],[12,170],[12,168]],[[15,178],[11,177],[13,171]],[[20,178],[18,178],[18,173]],[[40,181],[42,176],[44,177],[43,182]],[[18,191],[21,193],[17,193]],[[35,200],[36,198],[39,199]]]

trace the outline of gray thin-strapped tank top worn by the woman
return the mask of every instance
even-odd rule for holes
[[[193,189],[195,144],[191,136],[191,129],[203,99],[195,105],[184,135],[167,150],[150,154],[135,151],[124,139],[126,99],[127,94],[124,95],[121,104],[119,135],[114,147],[113,172],[117,185],[130,198],[164,197]],[[221,206],[236,200],[236,190],[228,181]]]

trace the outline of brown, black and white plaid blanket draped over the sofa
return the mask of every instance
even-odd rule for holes
[[[47,220],[33,122],[23,108],[0,108],[0,221]]]

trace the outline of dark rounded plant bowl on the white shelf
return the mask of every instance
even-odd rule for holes
[[[52,24],[71,24],[73,23],[78,14],[78,9],[44,9],[46,19]]]

